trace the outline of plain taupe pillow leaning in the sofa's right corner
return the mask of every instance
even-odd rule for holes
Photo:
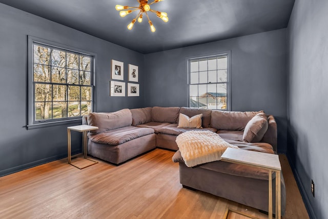
[[[260,142],[268,130],[268,117],[264,112],[256,114],[246,125],[242,141]]]

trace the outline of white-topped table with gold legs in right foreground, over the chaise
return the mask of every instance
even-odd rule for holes
[[[248,165],[269,171],[269,218],[272,219],[272,172],[276,173],[276,218],[281,218],[281,166],[277,154],[262,153],[257,151],[227,148],[221,156],[221,161]]]

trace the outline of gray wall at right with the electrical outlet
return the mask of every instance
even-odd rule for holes
[[[288,156],[311,218],[328,218],[327,11],[325,0],[295,1],[288,25]]]

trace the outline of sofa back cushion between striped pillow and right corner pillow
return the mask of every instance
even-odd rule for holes
[[[247,123],[258,113],[212,110],[211,127],[217,130],[243,131]]]

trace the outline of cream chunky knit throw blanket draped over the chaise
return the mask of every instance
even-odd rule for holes
[[[228,148],[238,148],[211,131],[187,131],[176,137],[183,161],[187,167],[221,160]]]

